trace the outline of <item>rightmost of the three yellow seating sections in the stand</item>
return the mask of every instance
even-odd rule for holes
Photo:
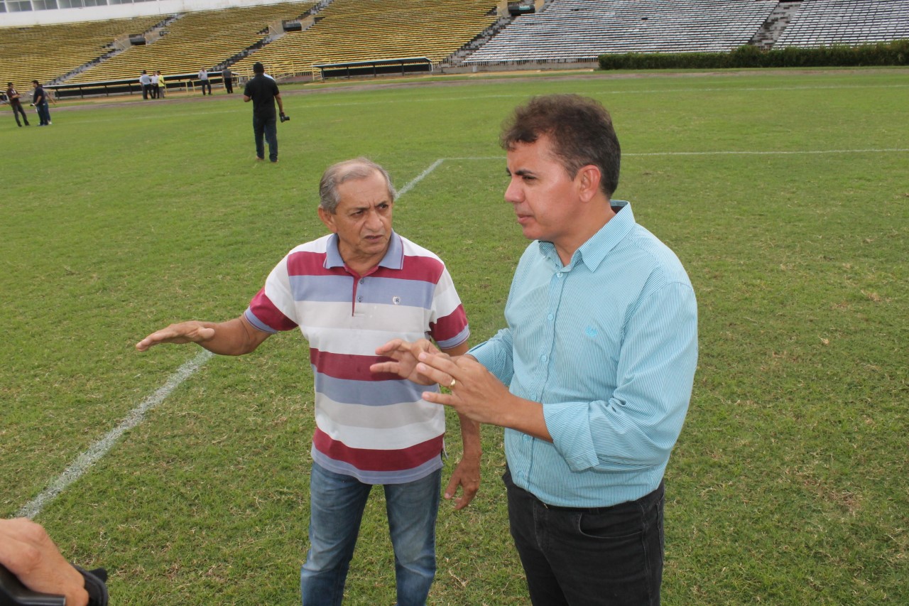
[[[261,61],[276,76],[313,73],[315,64],[425,56],[442,61],[492,25],[494,0],[333,0],[313,25],[265,45],[238,61],[250,75]]]

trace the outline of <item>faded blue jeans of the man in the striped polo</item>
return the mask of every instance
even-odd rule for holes
[[[388,530],[395,549],[398,606],[422,606],[435,577],[435,518],[442,470],[405,484],[385,484]],[[304,606],[336,606],[372,484],[313,463],[309,480],[309,552],[300,570]]]

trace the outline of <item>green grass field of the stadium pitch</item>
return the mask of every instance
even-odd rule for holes
[[[372,157],[412,184],[396,229],[445,259],[472,342],[491,336],[526,246],[498,129],[550,92],[612,112],[615,197],[674,248],[699,299],[664,603],[909,602],[905,69],[288,86],[275,166],[254,161],[251,107],[220,91],[62,102],[44,130],[5,109],[0,515],[201,351],[135,341],[234,318],[287,250],[324,233],[316,185],[337,160]],[[298,603],[314,425],[302,338],[209,359],[159,400],[35,520],[72,560],[111,571],[115,604]],[[432,604],[528,603],[501,437],[484,427],[470,508],[443,503]],[[350,604],[395,601],[379,492]]]

